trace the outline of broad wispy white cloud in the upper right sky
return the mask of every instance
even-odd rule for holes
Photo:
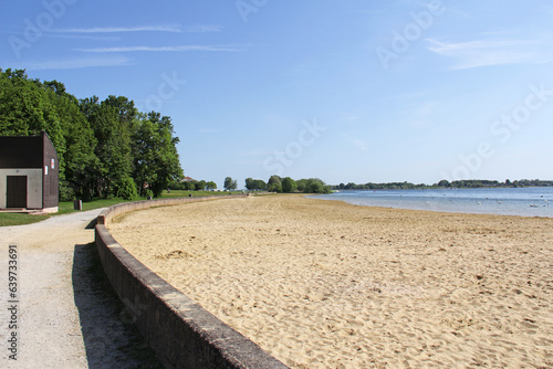
[[[434,39],[427,40],[429,51],[455,60],[451,70],[472,67],[538,64],[552,61],[553,54],[544,43],[536,40],[476,40],[448,43]]]

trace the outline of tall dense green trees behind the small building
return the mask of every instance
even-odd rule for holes
[[[0,68],[0,135],[44,130],[60,162],[60,198],[160,196],[182,177],[171,118],[138,112],[133,101],[77,99],[58,81]]]

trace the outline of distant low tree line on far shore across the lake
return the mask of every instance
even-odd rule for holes
[[[507,179],[504,182],[486,179],[468,179],[468,180],[440,180],[438,183],[410,183],[410,182],[388,182],[388,183],[365,183],[356,184],[349,182],[347,184],[340,183],[332,186],[333,190],[410,190],[410,189],[431,189],[431,188],[507,188],[507,187],[551,187],[553,180],[539,179],[520,179],[511,181]]]

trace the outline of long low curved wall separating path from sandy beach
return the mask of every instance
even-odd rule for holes
[[[109,220],[127,211],[225,198],[228,197],[138,201],[104,210],[95,228],[104,271],[167,368],[288,368],[147,268],[106,229]]]

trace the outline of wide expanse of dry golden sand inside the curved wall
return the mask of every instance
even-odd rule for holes
[[[274,196],[109,229],[291,367],[553,367],[553,219]]]

